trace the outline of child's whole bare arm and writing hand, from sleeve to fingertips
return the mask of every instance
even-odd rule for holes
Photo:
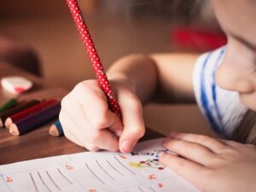
[[[61,102],[65,136],[89,150],[130,152],[143,137],[142,102],[157,97],[191,102],[192,69],[196,55],[131,55],[113,64],[108,78],[119,102],[122,119],[109,110],[96,80],[79,83]]]

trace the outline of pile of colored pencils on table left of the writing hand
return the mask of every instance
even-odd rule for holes
[[[55,119],[60,110],[61,103],[55,99],[20,102],[10,99],[0,106],[0,127],[6,127],[10,134],[20,136]],[[49,127],[49,134],[55,137],[63,135],[59,121]]]

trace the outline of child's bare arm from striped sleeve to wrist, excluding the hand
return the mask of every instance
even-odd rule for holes
[[[131,84],[142,102],[194,102],[192,73],[198,55],[129,55],[108,70],[109,79]]]

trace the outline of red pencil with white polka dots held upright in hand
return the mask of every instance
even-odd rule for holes
[[[83,16],[81,15],[79,3],[76,0],[67,0],[67,5],[79,31],[80,38],[83,41],[84,49],[90,58],[90,64],[96,73],[96,79],[108,98],[108,106],[114,113],[117,113],[119,117],[121,117],[119,104],[113,95],[113,90],[111,89],[110,84],[108,83],[108,78],[104,73],[102,62],[96,52],[93,41],[90,38],[90,32],[84,22]]]

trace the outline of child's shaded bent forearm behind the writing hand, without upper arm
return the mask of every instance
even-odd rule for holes
[[[108,70],[108,79],[125,81],[142,102],[148,102],[154,97],[158,78],[155,63],[150,57],[128,55],[113,63]]]

